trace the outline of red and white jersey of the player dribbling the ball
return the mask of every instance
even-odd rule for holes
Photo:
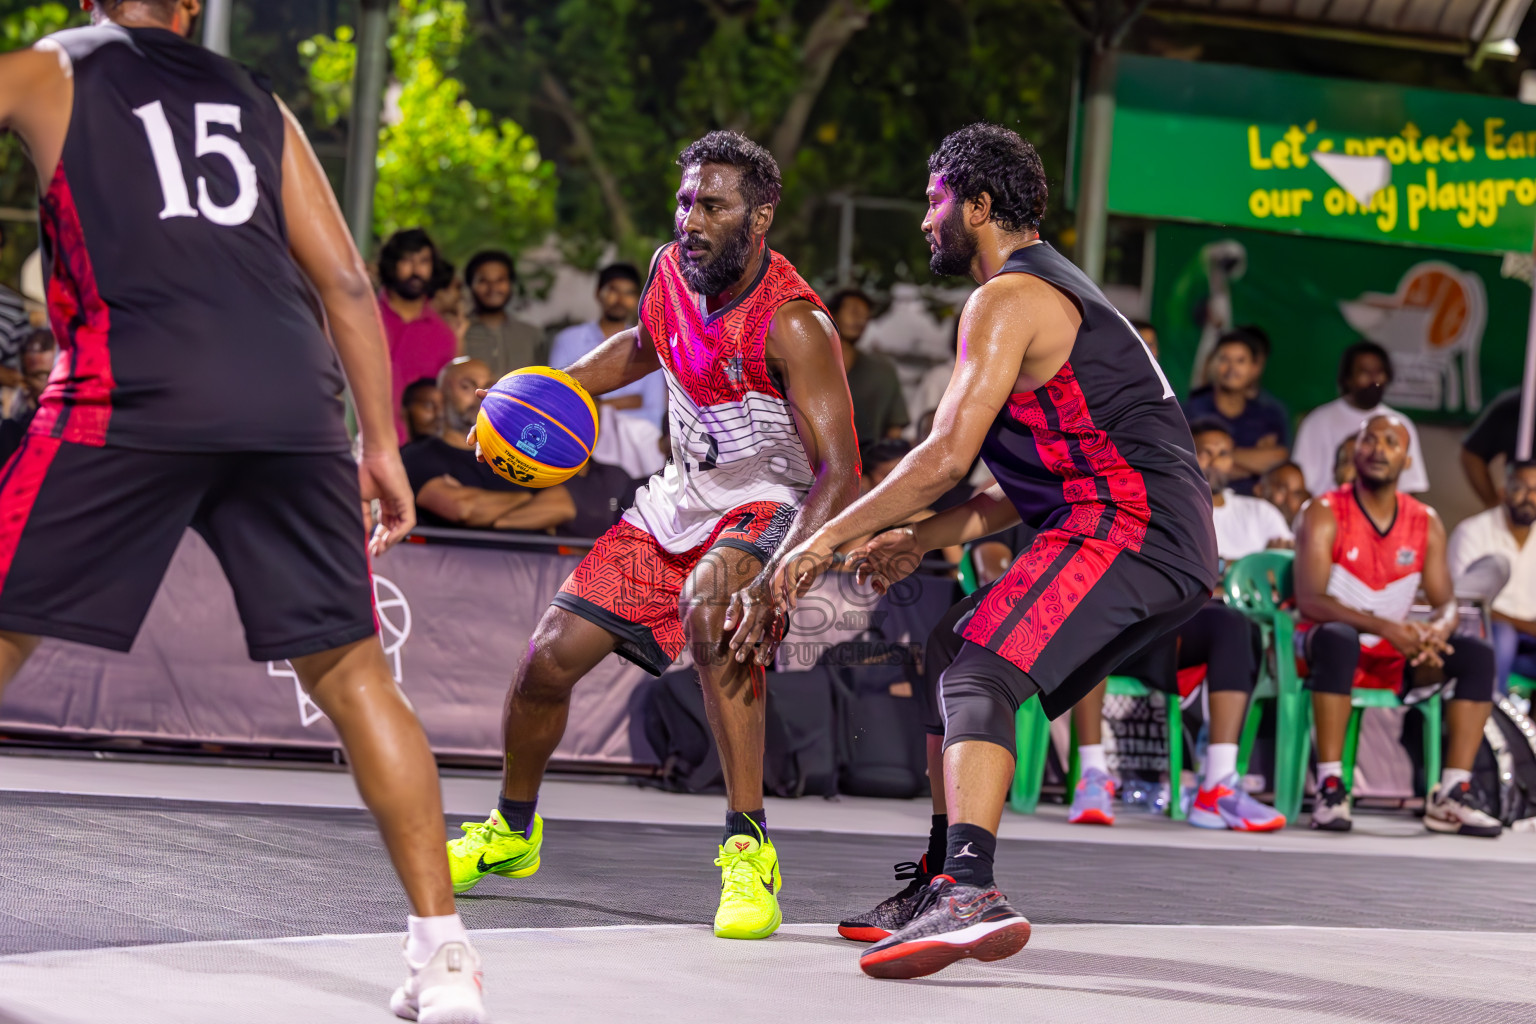
[[[703,543],[748,502],[799,505],[816,481],[783,382],[766,364],[768,327],[785,302],[826,312],[790,261],[768,250],[757,279],[708,312],[677,266],[677,244],[656,258],[641,322],[667,375],[671,462],[634,496],[625,520],[673,553]]]

